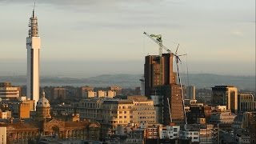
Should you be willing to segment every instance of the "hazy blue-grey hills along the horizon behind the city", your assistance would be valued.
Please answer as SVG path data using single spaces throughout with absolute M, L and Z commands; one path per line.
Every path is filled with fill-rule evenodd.
M 186 74 L 182 75 L 182 84 L 187 86 L 188 78 Z M 124 88 L 134 88 L 140 86 L 139 78 L 142 74 L 103 74 L 91 78 L 59 78 L 42 77 L 41 86 L 122 86 Z M 0 76 L 0 82 L 12 82 L 13 85 L 26 85 L 26 76 Z M 234 85 L 239 90 L 255 91 L 255 76 L 231 76 L 218 74 L 190 74 L 190 85 L 197 88 L 210 89 L 216 85 Z

